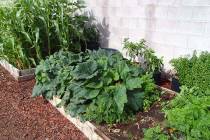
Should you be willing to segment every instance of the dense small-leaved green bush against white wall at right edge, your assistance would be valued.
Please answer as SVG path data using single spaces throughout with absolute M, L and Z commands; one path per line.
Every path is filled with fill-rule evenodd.
M 181 85 L 187 87 L 199 87 L 205 92 L 210 88 L 210 53 L 202 52 L 200 56 L 180 57 L 171 60 Z

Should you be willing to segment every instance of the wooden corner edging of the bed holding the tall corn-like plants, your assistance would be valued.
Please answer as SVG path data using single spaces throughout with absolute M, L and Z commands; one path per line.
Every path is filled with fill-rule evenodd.
M 0 65 L 4 67 L 17 81 L 27 81 L 34 79 L 35 68 L 19 70 L 6 60 L 0 60 Z

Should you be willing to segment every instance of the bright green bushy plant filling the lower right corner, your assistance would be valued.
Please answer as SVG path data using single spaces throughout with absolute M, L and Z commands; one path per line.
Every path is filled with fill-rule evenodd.
M 158 130 L 158 135 L 153 133 L 154 129 L 148 129 L 145 137 L 159 137 L 166 135 L 168 139 L 207 140 L 210 138 L 210 91 L 202 92 L 197 87 L 182 87 L 181 93 L 172 100 L 165 108 L 166 129 L 172 131 L 164 132 Z M 151 133 L 152 132 L 152 133 Z

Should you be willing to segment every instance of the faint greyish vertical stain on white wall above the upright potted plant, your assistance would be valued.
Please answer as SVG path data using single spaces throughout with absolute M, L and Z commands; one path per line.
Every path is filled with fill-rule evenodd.
M 149 4 L 145 8 L 145 15 L 146 15 L 146 25 L 145 25 L 145 39 L 150 42 L 153 38 L 153 33 L 151 29 L 155 27 L 156 19 L 155 19 L 155 5 Z

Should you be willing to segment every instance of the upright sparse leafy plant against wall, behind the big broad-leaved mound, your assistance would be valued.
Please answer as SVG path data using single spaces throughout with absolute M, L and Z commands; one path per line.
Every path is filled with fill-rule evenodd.
M 138 58 L 142 58 L 143 61 L 141 65 L 145 67 L 145 70 L 148 72 L 160 72 L 163 67 L 162 58 L 158 58 L 155 55 L 154 50 L 149 48 L 146 44 L 146 41 L 142 39 L 140 42 L 130 42 L 128 39 L 124 40 L 124 49 L 127 50 L 127 55 L 131 58 L 132 61 L 135 61 Z

